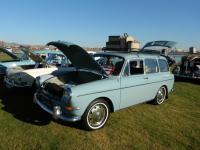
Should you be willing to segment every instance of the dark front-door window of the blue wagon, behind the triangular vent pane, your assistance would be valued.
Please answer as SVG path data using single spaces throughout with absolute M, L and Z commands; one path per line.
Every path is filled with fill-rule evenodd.
M 130 61 L 130 74 L 144 74 L 143 60 L 133 60 Z

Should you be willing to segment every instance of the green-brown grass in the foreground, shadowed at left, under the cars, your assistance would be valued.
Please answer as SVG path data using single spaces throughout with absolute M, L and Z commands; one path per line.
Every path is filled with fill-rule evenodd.
M 178 82 L 162 105 L 123 109 L 103 129 L 88 132 L 53 121 L 26 92 L 0 87 L 0 149 L 199 149 L 199 91 L 199 85 Z

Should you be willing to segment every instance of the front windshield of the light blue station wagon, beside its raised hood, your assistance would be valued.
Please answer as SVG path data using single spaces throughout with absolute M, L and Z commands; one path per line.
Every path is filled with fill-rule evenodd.
M 108 75 L 117 76 L 120 74 L 124 58 L 106 54 L 94 54 L 93 57 Z

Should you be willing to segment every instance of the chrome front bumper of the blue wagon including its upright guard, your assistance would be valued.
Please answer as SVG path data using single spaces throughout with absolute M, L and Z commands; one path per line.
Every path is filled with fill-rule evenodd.
M 51 114 L 53 116 L 54 119 L 61 119 L 64 121 L 69 121 L 69 122 L 76 122 L 81 120 L 81 117 L 65 117 L 62 115 L 62 112 L 57 113 L 58 110 L 56 110 L 57 108 L 59 108 L 59 106 L 54 106 L 54 111 L 50 110 L 49 108 L 47 108 L 45 105 L 43 105 L 36 97 L 36 94 L 34 94 L 33 97 L 33 102 L 37 103 L 43 110 L 45 110 L 46 112 L 48 112 L 49 114 Z M 59 110 L 60 111 L 60 110 Z

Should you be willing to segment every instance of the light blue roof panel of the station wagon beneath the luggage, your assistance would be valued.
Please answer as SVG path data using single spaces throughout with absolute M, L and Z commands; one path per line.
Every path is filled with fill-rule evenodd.
M 131 58 L 163 58 L 165 57 L 161 55 L 156 55 L 156 54 L 145 54 L 145 53 L 139 53 L 139 52 L 111 52 L 111 51 L 106 51 L 106 52 L 97 52 L 96 54 L 108 54 L 108 55 L 115 55 L 115 56 L 120 56 L 125 59 L 131 59 Z

